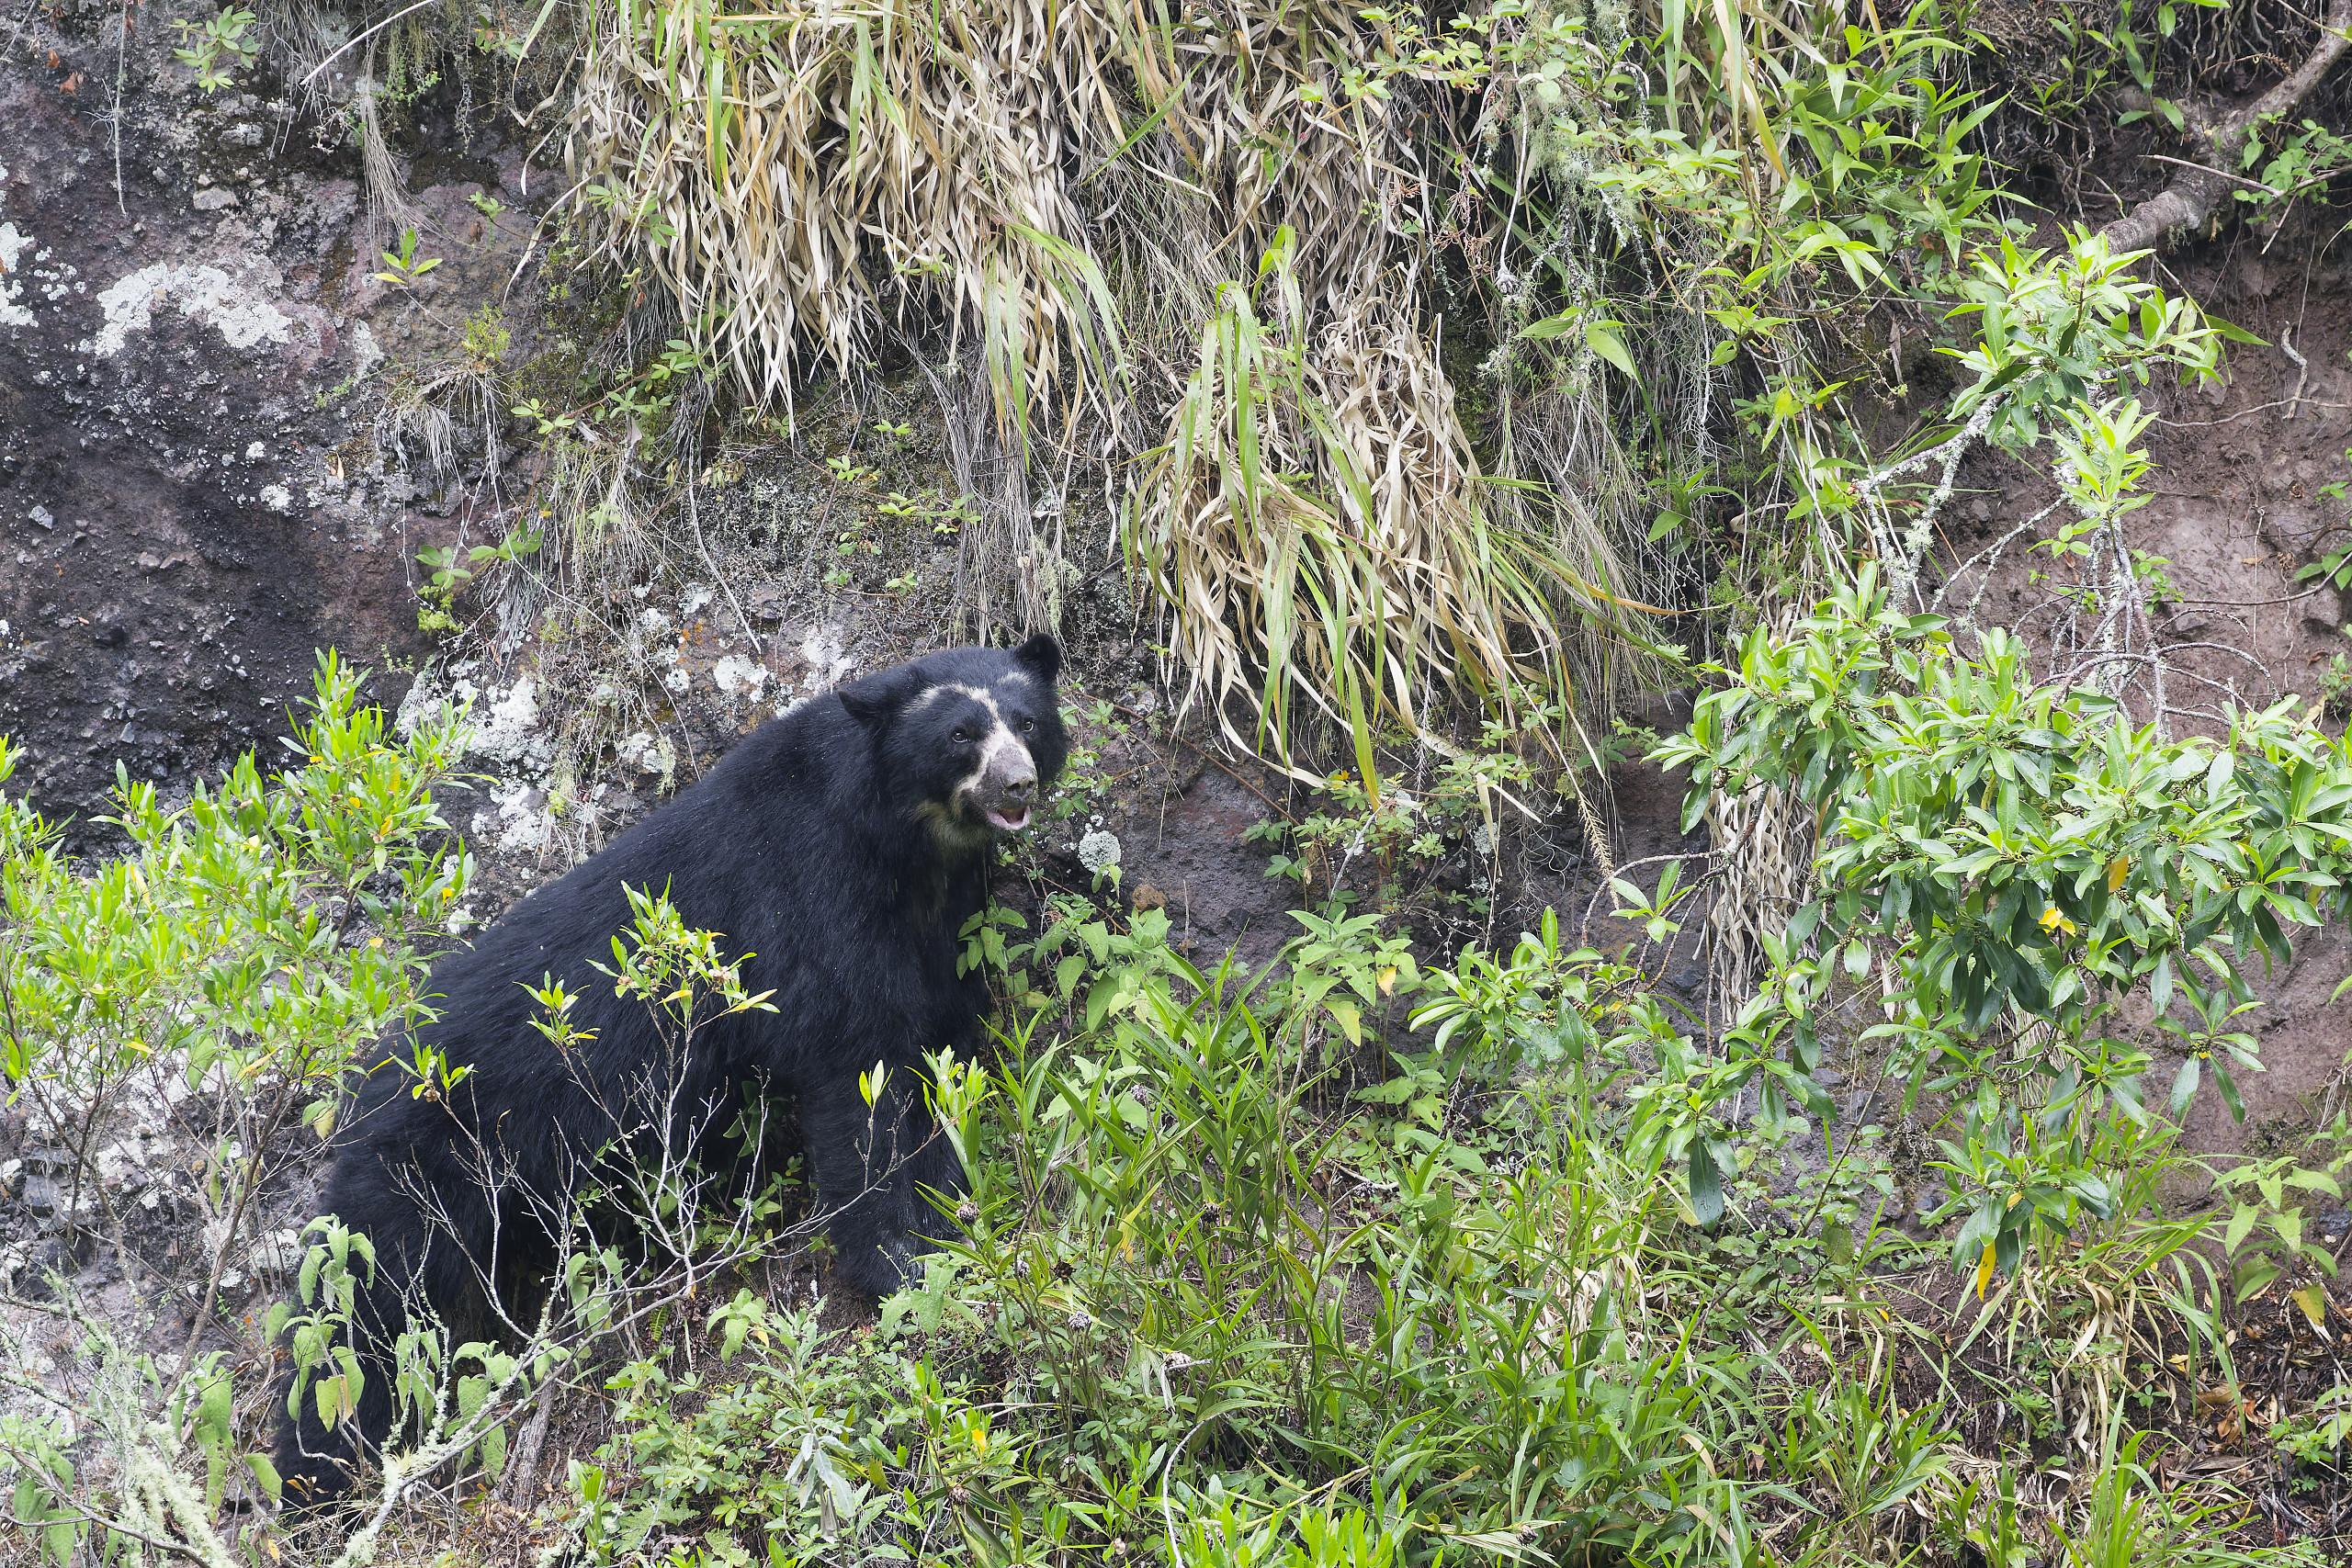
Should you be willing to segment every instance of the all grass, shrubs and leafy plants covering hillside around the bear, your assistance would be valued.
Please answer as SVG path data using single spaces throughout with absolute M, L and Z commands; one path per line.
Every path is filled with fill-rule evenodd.
M 2352 748 L 2159 632 L 2178 595 L 2126 527 L 2154 400 L 2246 334 L 2117 244 L 2192 235 L 2070 221 L 2053 153 L 2176 136 L 2234 160 L 2239 200 L 2190 221 L 2317 254 L 2340 214 L 2288 223 L 2352 172 L 2303 115 L 2340 45 L 2274 5 L 2089 9 L 548 0 L 191 33 L 207 80 L 362 49 L 329 113 L 369 169 L 430 71 L 562 115 L 543 310 L 604 310 L 607 346 L 510 367 L 482 313 L 388 393 L 388 440 L 541 442 L 529 529 L 428 562 L 430 611 L 473 574 L 635 569 L 814 378 L 906 353 L 995 461 L 894 496 L 964 529 L 967 625 L 1054 618 L 1070 541 L 1028 484 L 1096 473 L 1171 689 L 1324 809 L 1270 827 L 1303 907 L 1265 973 L 1202 969 L 1115 867 L 967 933 L 997 1044 L 936 1084 L 974 1192 L 875 1326 L 818 1324 L 790 1187 L 616 1171 L 503 1342 L 412 1326 L 409 1448 L 301 1528 L 259 1507 L 256 1432 L 285 1361 L 350 1408 L 327 1347 L 372 1258 L 245 1215 L 402 1058 L 470 875 L 435 806 L 463 715 L 388 733 L 327 661 L 282 771 L 179 811 L 125 780 L 106 867 L 0 797 L 0 1065 L 68 1152 L 26 1180 L 125 1274 L 155 1222 L 209 1258 L 169 1342 L 64 1269 L 9 1298 L 21 1549 L 2340 1554 L 2352 1128 L 2223 1159 L 2180 1124 L 2239 1110 L 2244 1013 L 2345 914 Z M 395 233 L 381 277 L 414 287 Z M 659 331 L 616 303 L 663 296 Z M 1940 527 L 1985 447 L 2056 501 L 1962 557 Z M 1985 611 L 2020 564 L 2030 632 Z M 1696 693 L 1653 759 L 1712 849 L 1616 867 L 1590 790 L 1639 689 Z M 1404 872 L 1543 795 L 1646 945 L 1557 910 L 1416 952 Z M 743 1006 L 724 933 L 647 893 L 619 983 L 677 1034 Z M 1677 938 L 1696 990 L 1661 973 Z M 466 1072 L 405 1065 L 419 1098 Z M 212 1150 L 160 1220 L 113 1197 L 141 1117 Z M 287 1302 L 226 1321 L 249 1276 Z

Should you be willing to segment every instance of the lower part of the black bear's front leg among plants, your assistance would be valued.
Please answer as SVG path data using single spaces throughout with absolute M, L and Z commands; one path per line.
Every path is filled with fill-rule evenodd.
M 856 1072 L 802 1093 L 800 1126 L 837 1272 L 868 1295 L 891 1295 L 920 1276 L 917 1260 L 946 1225 L 922 1190 L 964 1192 L 964 1171 L 922 1091 L 913 1067 L 891 1067 L 873 1105 Z

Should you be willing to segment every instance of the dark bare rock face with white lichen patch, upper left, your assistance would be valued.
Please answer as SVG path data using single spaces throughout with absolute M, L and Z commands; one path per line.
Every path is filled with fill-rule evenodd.
M 442 496 L 350 411 L 416 313 L 367 275 L 358 158 L 285 99 L 200 92 L 167 7 L 136 16 L 118 146 L 92 16 L 33 12 L 0 59 L 0 733 L 12 788 L 85 820 L 118 759 L 186 780 L 268 743 L 313 649 L 397 701 L 388 665 L 430 654 L 412 557 L 463 527 L 412 510 Z M 503 273 L 529 223 L 480 190 L 426 190 L 452 277 Z

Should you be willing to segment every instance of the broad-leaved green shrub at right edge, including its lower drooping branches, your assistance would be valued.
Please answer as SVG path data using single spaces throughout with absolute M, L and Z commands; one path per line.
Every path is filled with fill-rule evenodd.
M 2352 752 L 2293 703 L 2234 715 L 2218 743 L 2169 738 L 2096 686 L 2034 684 L 1999 630 L 1983 649 L 1889 609 L 1865 567 L 1790 637 L 1752 632 L 1658 755 L 1691 766 L 1686 820 L 1710 788 L 1755 783 L 1818 813 L 1776 1006 L 1802 1025 L 1832 969 L 1886 976 L 1893 1016 L 1867 1037 L 1907 1103 L 1966 1107 L 1955 1258 L 2016 1267 L 2034 1227 L 2110 1215 L 2086 1147 L 2103 1114 L 2150 1114 L 2126 999 L 2178 1041 L 2171 1114 L 2206 1074 L 2239 1112 L 2234 1072 L 2260 1060 L 2230 1023 L 2352 865 Z M 1820 959 L 1797 957 L 1806 940 Z

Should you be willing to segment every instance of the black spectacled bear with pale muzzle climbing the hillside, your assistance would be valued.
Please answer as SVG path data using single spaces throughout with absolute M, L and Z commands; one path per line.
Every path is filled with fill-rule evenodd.
M 539 889 L 473 947 L 433 969 L 437 1020 L 416 1046 L 470 1067 L 447 1095 L 409 1093 L 397 1063 L 367 1074 L 339 1138 L 322 1211 L 376 1251 L 350 1328 L 362 1394 L 332 1432 L 313 1399 L 278 1429 L 278 1472 L 303 1500 L 350 1486 L 390 1434 L 393 1342 L 412 1302 L 454 1342 L 496 1338 L 485 1279 L 543 1279 L 543 1215 L 623 1128 L 649 1074 L 675 1072 L 670 1105 L 696 1107 L 684 1138 L 717 1131 L 746 1084 L 797 1095 L 837 1279 L 887 1295 L 931 1251 L 964 1173 L 924 1103 L 924 1053 L 978 1044 L 983 976 L 957 976 L 960 931 L 988 898 L 990 846 L 1018 832 L 1068 757 L 1054 684 L 1061 646 L 950 649 L 769 719 L 673 804 Z M 663 1065 L 647 1004 L 616 997 L 593 964 L 630 924 L 626 889 L 663 891 L 689 929 L 717 931 L 743 987 L 771 1013 L 739 1013 Z M 569 1020 L 593 1034 L 557 1051 L 527 987 L 555 976 Z M 875 1105 L 858 1074 L 889 1067 Z M 680 1133 L 670 1131 L 675 1145 Z M 659 1145 L 656 1145 L 659 1147 Z M 485 1161 L 485 1154 L 489 1157 Z M 485 1164 L 499 1173 L 485 1182 Z

